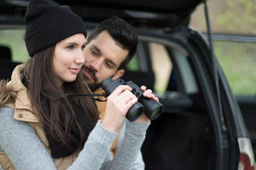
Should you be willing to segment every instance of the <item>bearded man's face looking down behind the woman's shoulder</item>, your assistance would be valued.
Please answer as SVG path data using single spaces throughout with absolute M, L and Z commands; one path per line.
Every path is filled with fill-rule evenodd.
M 118 70 L 128 55 L 128 50 L 122 49 L 108 31 L 102 31 L 94 40 L 91 40 L 84 49 L 85 62 L 82 67 L 85 82 L 97 85 L 111 77 L 113 80 L 122 77 L 124 70 Z

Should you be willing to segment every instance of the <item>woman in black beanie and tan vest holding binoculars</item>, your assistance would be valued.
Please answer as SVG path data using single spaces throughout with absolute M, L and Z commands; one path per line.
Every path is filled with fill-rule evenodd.
M 87 36 L 81 18 L 52 0 L 30 0 L 25 22 L 32 58 L 15 68 L 11 82 L 0 82 L 0 165 L 4 170 L 130 169 L 150 123 L 144 114 L 127 121 L 113 160 L 109 149 L 137 102 L 131 88 L 119 86 L 108 96 L 100 121 L 93 98 L 69 95 L 89 93 L 79 73 Z M 144 96 L 158 101 L 150 90 Z

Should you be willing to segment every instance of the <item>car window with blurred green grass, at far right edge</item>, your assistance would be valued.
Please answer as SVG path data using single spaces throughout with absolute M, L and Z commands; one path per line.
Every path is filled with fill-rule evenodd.
M 235 95 L 256 94 L 256 43 L 214 41 L 215 55 Z

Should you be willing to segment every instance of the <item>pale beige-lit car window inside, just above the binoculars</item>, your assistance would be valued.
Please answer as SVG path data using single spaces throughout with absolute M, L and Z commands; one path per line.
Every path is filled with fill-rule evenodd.
M 148 42 L 148 49 L 155 76 L 154 90 L 157 93 L 164 93 L 172 72 L 172 61 L 163 44 Z

